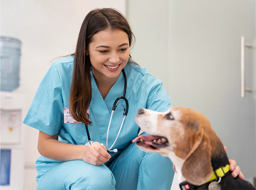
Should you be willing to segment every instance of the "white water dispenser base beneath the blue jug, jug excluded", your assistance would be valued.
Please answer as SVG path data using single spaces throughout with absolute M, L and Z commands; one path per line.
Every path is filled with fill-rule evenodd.
M 0 190 L 23 190 L 23 102 L 20 94 L 0 92 Z

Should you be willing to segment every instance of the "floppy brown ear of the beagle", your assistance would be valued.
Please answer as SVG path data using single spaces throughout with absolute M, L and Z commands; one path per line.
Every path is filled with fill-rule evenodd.
M 209 180 L 212 171 L 210 140 L 204 135 L 204 129 L 200 126 L 181 172 L 189 183 L 201 185 Z

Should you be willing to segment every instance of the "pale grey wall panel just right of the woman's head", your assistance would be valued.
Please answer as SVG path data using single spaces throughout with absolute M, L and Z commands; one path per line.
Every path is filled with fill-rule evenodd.
M 127 2 L 127 18 L 136 37 L 131 56 L 162 80 L 168 91 L 168 0 Z

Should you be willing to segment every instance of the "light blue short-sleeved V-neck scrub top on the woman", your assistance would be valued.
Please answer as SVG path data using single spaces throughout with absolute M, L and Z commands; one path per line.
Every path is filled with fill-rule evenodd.
M 84 145 L 88 141 L 85 124 L 64 123 L 64 108 L 69 108 L 73 68 L 73 56 L 60 58 L 52 63 L 37 89 L 23 123 L 49 135 L 59 134 L 59 141 Z M 118 149 L 118 152 L 109 152 L 111 159 L 121 153 L 131 143 L 131 140 L 138 136 L 140 129 L 135 123 L 135 117 L 139 108 L 165 112 L 171 106 L 171 100 L 161 80 L 150 75 L 146 68 L 128 63 L 124 69 L 127 76 L 126 98 L 129 102 L 129 109 L 121 133 L 112 148 Z M 92 125 L 88 126 L 89 133 L 92 141 L 98 141 L 106 146 L 112 106 L 116 98 L 123 95 L 124 76 L 121 73 L 104 100 L 92 73 L 91 85 L 92 98 L 89 110 Z M 113 114 L 109 129 L 109 148 L 116 139 L 123 120 L 124 107 L 126 107 L 124 100 L 119 100 L 118 104 L 120 105 Z M 40 156 L 36 163 L 37 171 L 43 174 L 57 163 L 61 162 Z

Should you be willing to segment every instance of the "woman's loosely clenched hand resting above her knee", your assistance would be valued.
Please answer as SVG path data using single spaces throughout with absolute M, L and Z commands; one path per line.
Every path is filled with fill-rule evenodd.
M 106 147 L 101 146 L 99 142 L 94 142 L 85 148 L 86 149 L 82 155 L 82 158 L 83 161 L 87 163 L 93 164 L 95 166 L 101 166 L 111 158 L 110 154 L 107 152 Z

